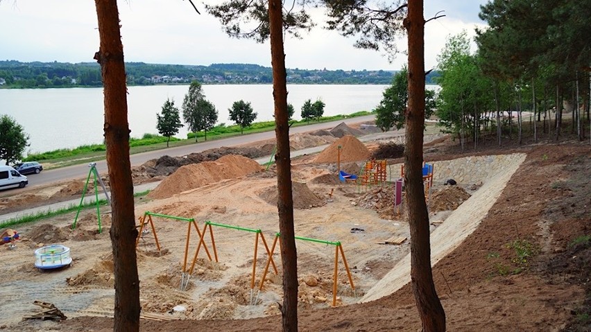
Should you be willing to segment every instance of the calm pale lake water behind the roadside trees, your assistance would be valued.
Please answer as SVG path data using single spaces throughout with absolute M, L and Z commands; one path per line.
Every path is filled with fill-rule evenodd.
M 325 116 L 371 111 L 382 100 L 386 85 L 288 85 L 288 102 L 295 108 L 294 119 L 301 119 L 307 99 L 320 98 Z M 181 109 L 189 85 L 128 87 L 128 118 L 132 137 L 146 132 L 157 134 L 156 114 L 166 98 Z M 205 98 L 214 103 L 219 123 L 228 120 L 228 108 L 234 101 L 252 104 L 255 121 L 273 120 L 272 85 L 203 85 Z M 0 114 L 12 116 L 30 136 L 28 152 L 46 152 L 58 148 L 103 141 L 103 88 L 0 89 Z M 182 114 L 182 113 L 181 113 Z M 181 118 L 182 119 L 182 118 Z M 181 128 L 176 137 L 187 138 Z

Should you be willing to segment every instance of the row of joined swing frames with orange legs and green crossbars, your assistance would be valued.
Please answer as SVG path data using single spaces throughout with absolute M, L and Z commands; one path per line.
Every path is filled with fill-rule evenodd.
M 207 220 L 207 221 L 205 221 L 205 225 L 203 226 L 203 230 L 200 230 L 197 227 L 197 224 L 196 224 L 194 218 L 168 216 L 165 214 L 152 213 L 152 212 L 146 211 L 144 213 L 144 216 L 141 216 L 139 218 L 139 225 L 137 225 L 139 232 L 138 232 L 138 236 L 137 236 L 137 239 L 135 242 L 136 247 L 139 244 L 140 239 L 144 237 L 144 227 L 148 227 L 148 225 L 149 225 L 151 227 L 151 231 L 153 233 L 153 237 L 154 237 L 154 241 L 155 241 L 155 245 L 157 247 L 157 250 L 160 251 L 160 242 L 158 241 L 158 238 L 157 238 L 156 227 L 154 225 L 152 217 L 169 218 L 169 219 L 181 220 L 181 221 L 188 222 L 187 241 L 185 244 L 185 258 L 182 263 L 180 290 L 187 290 L 187 286 L 189 284 L 189 278 L 191 277 L 191 274 L 194 271 L 194 268 L 195 268 L 195 265 L 197 262 L 197 258 L 198 258 L 198 254 L 200 252 L 200 248 L 202 245 L 203 245 L 203 249 L 205 250 L 205 252 L 207 254 L 207 258 L 209 259 L 209 261 L 213 261 L 212 255 L 209 254 L 209 250 L 207 248 L 207 245 L 205 244 L 205 234 L 207 234 L 207 233 L 209 233 L 209 239 L 211 241 L 211 246 L 212 246 L 212 249 L 214 252 L 214 259 L 216 262 L 218 262 L 218 253 L 217 253 L 217 249 L 216 249 L 216 242 L 214 239 L 213 227 L 221 227 L 224 229 L 233 229 L 233 230 L 237 230 L 237 231 L 247 231 L 250 233 L 255 233 L 255 248 L 254 248 L 254 255 L 253 255 L 254 259 L 252 260 L 252 275 L 250 277 L 250 304 L 251 305 L 257 304 L 257 302 L 258 302 L 259 295 L 260 295 L 260 292 L 262 291 L 262 288 L 264 285 L 264 280 L 265 280 L 266 274 L 268 273 L 269 267 L 271 265 L 273 265 L 273 270 L 274 270 L 275 274 L 279 274 L 279 272 L 277 271 L 277 266 L 275 265 L 275 261 L 273 261 L 273 252 L 275 251 L 275 247 L 277 246 L 277 241 L 279 241 L 279 243 L 281 242 L 280 241 L 280 233 L 275 233 L 275 240 L 273 241 L 273 247 L 271 247 L 271 250 L 269 250 L 269 247 L 267 245 L 267 242 L 265 240 L 265 237 L 264 237 L 261 229 L 250 229 L 250 228 L 245 228 L 245 227 L 225 225 L 225 224 L 221 224 L 221 223 L 212 222 L 212 221 Z M 196 229 L 197 235 L 199 236 L 199 241 L 198 241 L 198 244 L 197 244 L 197 247 L 195 250 L 195 254 L 193 256 L 193 260 L 191 261 L 191 266 L 190 266 L 190 268 L 187 268 L 187 256 L 188 256 L 188 252 L 189 252 L 189 239 L 191 238 L 191 228 Z M 207 229 L 209 229 L 209 231 L 207 231 Z M 349 270 L 347 260 L 345 259 L 345 252 L 343 251 L 343 246 L 341 245 L 340 242 L 324 241 L 324 240 L 319 240 L 316 238 L 304 238 L 304 237 L 300 237 L 300 236 L 295 236 L 295 239 L 300 240 L 300 241 L 309 241 L 309 242 L 314 242 L 314 243 L 322 243 L 325 245 L 334 245 L 335 246 L 334 281 L 333 281 L 334 286 L 333 286 L 332 306 L 336 306 L 336 291 L 337 291 L 337 286 L 338 286 L 337 280 L 338 280 L 338 268 L 339 268 L 339 252 L 341 253 L 341 258 L 343 259 L 343 265 L 345 265 L 345 270 L 347 271 L 351 288 L 355 292 L 355 286 L 353 284 L 351 272 Z M 266 266 L 264 268 L 262 278 L 260 279 L 259 290 L 257 292 L 257 296 L 256 296 L 256 298 L 254 298 L 255 280 L 256 280 L 256 272 L 257 272 L 257 261 L 259 259 L 259 257 L 258 257 L 259 241 L 265 247 L 265 251 L 267 254 L 267 262 L 266 262 Z M 355 294 L 355 296 L 357 297 L 357 294 Z

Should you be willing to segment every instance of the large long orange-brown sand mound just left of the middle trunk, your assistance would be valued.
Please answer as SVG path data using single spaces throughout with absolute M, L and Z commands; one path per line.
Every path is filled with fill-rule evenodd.
M 216 161 L 189 164 L 178 168 L 148 194 L 149 198 L 169 198 L 177 193 L 196 189 L 205 184 L 241 177 L 262 171 L 262 166 L 252 159 L 239 155 L 225 155 Z

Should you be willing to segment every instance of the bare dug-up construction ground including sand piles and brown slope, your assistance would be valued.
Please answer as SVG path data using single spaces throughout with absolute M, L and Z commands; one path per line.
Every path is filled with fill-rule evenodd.
M 355 128 L 340 129 L 356 134 Z M 341 169 L 357 174 L 372 154 L 390 151 L 388 180 L 392 180 L 400 175 L 394 166 L 403 160 L 400 149 L 385 139 L 362 144 L 343 134 L 312 136 L 315 138 L 309 140 L 316 145 L 316 137 L 333 144 L 318 155 L 292 160 L 295 235 L 339 241 L 354 289 L 339 261 L 337 306 L 332 308 L 334 246 L 298 241 L 300 331 L 420 331 L 409 283 L 408 220 L 404 211 L 399 215 L 393 209 L 393 186 L 339 182 L 334 153 L 338 143 L 343 149 Z M 400 138 L 391 141 L 400 143 Z M 493 138 L 477 150 L 467 147 L 462 152 L 457 141 L 436 132 L 428 132 L 426 141 L 426 161 L 450 161 L 454 167 L 474 162 L 479 156 L 507 156 L 495 158 L 506 160 L 502 171 L 483 175 L 480 180 L 449 187 L 435 177 L 429 199 L 433 275 L 449 331 L 588 331 L 588 142 L 563 137 L 560 143 L 526 141 L 518 145 L 506 139 L 499 148 Z M 271 150 L 268 144 L 272 148 L 272 142 L 243 148 Z M 250 158 L 256 156 L 243 157 L 239 150 L 216 157 L 220 155 L 224 157 L 199 160 L 198 164 L 179 164 L 177 159 L 136 168 L 136 183 L 162 180 L 147 197 L 137 198 L 136 216 L 151 211 L 195 218 L 200 229 L 205 220 L 261 229 L 271 247 L 279 231 L 274 166 L 265 170 L 252 164 Z M 164 170 L 164 164 L 169 168 Z M 191 174 L 195 178 L 189 184 Z M 43 189 L 46 201 L 76 197 L 82 190 L 79 185 L 68 182 Z M 27 207 L 24 198 L 3 200 L 2 211 Z M 101 209 L 100 234 L 96 210 L 83 211 L 72 230 L 74 214 L 15 226 L 22 239 L 11 250 L 6 245 L 0 247 L 0 329 L 87 331 L 92 326 L 92 331 L 112 330 L 110 211 Z M 142 314 L 158 314 L 169 320 L 142 319 L 141 331 L 280 331 L 280 276 L 271 270 L 257 304 L 250 305 L 255 233 L 214 227 L 219 262 L 209 261 L 202 248 L 187 290 L 180 290 L 187 222 L 160 217 L 153 221 L 162 248 L 156 249 L 149 231 L 140 238 L 140 303 Z M 383 244 L 390 238 L 406 241 Z M 192 230 L 187 266 L 197 242 Z M 35 268 L 33 251 L 51 243 L 71 248 L 74 261 L 70 267 L 53 271 Z M 213 254 L 209 234 L 205 243 Z M 278 252 L 276 249 L 273 259 L 281 269 Z M 267 258 L 261 242 L 258 253 L 257 288 Z M 22 321 L 35 311 L 34 300 L 55 304 L 68 319 Z

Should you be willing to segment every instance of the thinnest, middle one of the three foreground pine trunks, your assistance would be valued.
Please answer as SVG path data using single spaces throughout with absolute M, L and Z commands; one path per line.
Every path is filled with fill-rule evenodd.
M 271 65 L 273 67 L 273 100 L 275 101 L 275 137 L 277 137 L 277 211 L 281 232 L 283 266 L 284 332 L 298 331 L 298 263 L 293 230 L 293 196 L 291 193 L 291 159 L 289 155 L 289 124 L 287 115 L 287 81 L 283 49 L 282 1 L 269 0 L 271 32 Z

